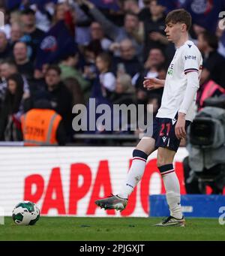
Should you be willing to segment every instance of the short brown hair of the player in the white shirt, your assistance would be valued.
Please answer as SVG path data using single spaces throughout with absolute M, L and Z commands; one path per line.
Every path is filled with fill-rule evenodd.
M 187 26 L 187 31 L 189 31 L 191 26 L 191 20 L 191 16 L 187 11 L 185 11 L 184 9 L 177 9 L 174 11 L 170 11 L 169 14 L 167 14 L 165 23 L 184 23 Z

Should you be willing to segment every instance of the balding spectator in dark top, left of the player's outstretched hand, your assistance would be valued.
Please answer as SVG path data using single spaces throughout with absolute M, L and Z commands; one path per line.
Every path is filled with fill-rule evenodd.
M 128 38 L 121 41 L 119 51 L 120 57 L 113 58 L 113 73 L 116 75 L 127 73 L 133 77 L 141 69 L 133 41 Z

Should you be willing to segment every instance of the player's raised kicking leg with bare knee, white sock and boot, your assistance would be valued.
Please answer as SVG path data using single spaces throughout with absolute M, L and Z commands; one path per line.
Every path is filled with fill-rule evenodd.
M 153 138 L 142 137 L 136 149 L 133 150 L 133 161 L 126 178 L 121 184 L 119 193 L 96 200 L 95 203 L 98 206 L 104 209 L 116 209 L 120 211 L 125 209 L 129 195 L 132 193 L 139 180 L 142 179 L 148 155 L 155 150 L 154 144 L 155 140 Z

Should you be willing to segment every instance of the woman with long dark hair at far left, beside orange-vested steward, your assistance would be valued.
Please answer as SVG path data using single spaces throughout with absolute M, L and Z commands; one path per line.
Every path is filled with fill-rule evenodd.
M 23 104 L 28 94 L 24 93 L 23 78 L 20 74 L 12 74 L 7 78 L 7 90 L 0 113 L 0 140 L 22 140 L 20 117 Z

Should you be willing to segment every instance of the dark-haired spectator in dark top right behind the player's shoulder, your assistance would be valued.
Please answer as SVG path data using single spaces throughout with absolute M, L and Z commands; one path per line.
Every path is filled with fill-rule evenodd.
M 202 32 L 197 42 L 199 50 L 203 54 L 203 68 L 200 84 L 214 80 L 215 83 L 225 88 L 225 59 L 217 53 L 217 37 L 210 32 Z

